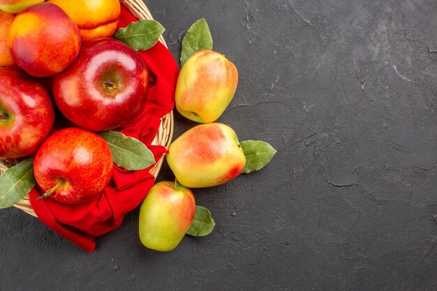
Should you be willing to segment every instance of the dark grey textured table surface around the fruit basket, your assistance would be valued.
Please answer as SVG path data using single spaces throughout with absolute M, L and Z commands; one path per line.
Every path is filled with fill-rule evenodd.
M 437 290 L 435 0 L 147 6 L 176 59 L 207 19 L 240 77 L 218 121 L 278 153 L 195 190 L 216 228 L 170 253 L 142 246 L 138 209 L 91 254 L 1 209 L 0 290 Z M 176 114 L 175 137 L 193 125 Z

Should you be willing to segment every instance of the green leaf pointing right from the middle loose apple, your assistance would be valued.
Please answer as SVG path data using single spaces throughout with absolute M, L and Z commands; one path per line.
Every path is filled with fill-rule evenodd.
M 244 173 L 250 173 L 258 171 L 267 165 L 272 160 L 276 149 L 274 149 L 267 142 L 261 140 L 246 140 L 240 142 L 246 156 L 246 166 L 244 167 Z

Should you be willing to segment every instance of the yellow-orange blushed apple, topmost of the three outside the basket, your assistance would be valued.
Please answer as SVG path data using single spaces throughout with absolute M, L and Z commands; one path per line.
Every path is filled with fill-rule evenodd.
M 205 124 L 223 114 L 238 84 L 235 65 L 211 50 L 196 52 L 186 60 L 177 79 L 175 104 L 182 116 Z

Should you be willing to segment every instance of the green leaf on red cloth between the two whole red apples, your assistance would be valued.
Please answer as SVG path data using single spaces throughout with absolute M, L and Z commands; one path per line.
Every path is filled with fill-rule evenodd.
M 126 170 L 142 170 L 155 163 L 154 155 L 149 149 L 133 137 L 126 137 L 117 131 L 98 133 L 108 142 L 115 165 Z

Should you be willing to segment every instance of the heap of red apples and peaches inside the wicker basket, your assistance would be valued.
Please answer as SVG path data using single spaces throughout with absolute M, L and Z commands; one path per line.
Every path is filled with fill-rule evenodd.
M 142 57 L 110 38 L 119 1 L 93 3 L 98 5 L 0 1 L 7 20 L 1 29 L 0 159 L 36 153 L 34 174 L 42 197 L 68 204 L 93 200 L 108 185 L 112 155 L 93 132 L 135 121 L 149 87 Z M 50 135 L 57 129 L 57 110 L 62 129 Z

